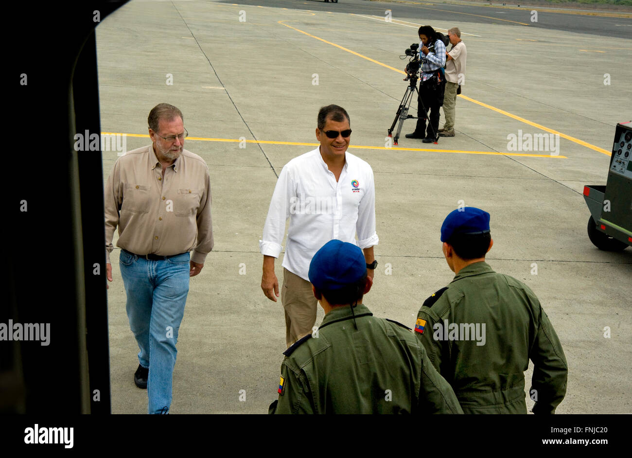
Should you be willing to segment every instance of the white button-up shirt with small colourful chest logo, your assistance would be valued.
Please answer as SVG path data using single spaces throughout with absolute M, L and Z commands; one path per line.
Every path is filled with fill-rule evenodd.
M 346 152 L 336 181 L 320 147 L 290 160 L 274 188 L 259 241 L 262 255 L 279 257 L 288 218 L 283 267 L 308 281 L 312 257 L 328 241 L 338 239 L 362 249 L 377 245 L 371 166 Z

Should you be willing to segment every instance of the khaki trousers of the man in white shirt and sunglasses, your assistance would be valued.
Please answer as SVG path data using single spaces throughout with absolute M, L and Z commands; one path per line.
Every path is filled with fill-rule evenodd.
M 285 340 L 289 347 L 296 340 L 312 333 L 318 301 L 310 282 L 283 268 L 281 302 L 285 310 Z

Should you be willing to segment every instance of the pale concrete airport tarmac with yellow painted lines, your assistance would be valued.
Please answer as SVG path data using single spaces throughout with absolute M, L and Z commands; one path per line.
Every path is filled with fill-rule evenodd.
M 399 56 L 421 24 L 330 10 L 133 0 L 97 27 L 102 131 L 125 133 L 127 150 L 147 145 L 149 110 L 174 104 L 185 148 L 210 170 L 215 248 L 191 279 L 171 413 L 267 413 L 277 398 L 284 315 L 260 289 L 258 240 L 277 175 L 315 148 L 318 109 L 331 103 L 351 117 L 349 152 L 375 173 L 379 265 L 364 301 L 374 315 L 414 327 L 425 298 L 453 279 L 444 217 L 461 204 L 483 208 L 494 238 L 487 261 L 533 289 L 564 347 L 568 393 L 557 412 L 631 413 L 632 249 L 590 243 L 582 189 L 606 183 L 615 125 L 630 120 L 632 39 L 433 21 L 444 33 L 461 27 L 468 49 L 456 136 L 407 140 L 408 120 L 392 147 L 387 128 L 406 89 Z M 512 134 L 544 133 L 556 139 L 548 148 L 511 150 Z M 116 159 L 104 152 L 104 180 Z M 118 254 L 108 292 L 112 413 L 143 414 Z M 281 260 L 276 272 L 282 282 Z

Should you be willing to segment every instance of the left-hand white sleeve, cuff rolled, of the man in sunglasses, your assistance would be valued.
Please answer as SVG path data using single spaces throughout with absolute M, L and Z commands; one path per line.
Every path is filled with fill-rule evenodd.
M 289 176 L 288 166 L 283 167 L 279 179 L 277 179 L 270 208 L 265 219 L 264 235 L 259 241 L 259 249 L 264 256 L 278 258 L 283 246 L 285 236 L 285 222 L 289 218 L 289 205 L 291 198 L 296 197 L 293 180 Z

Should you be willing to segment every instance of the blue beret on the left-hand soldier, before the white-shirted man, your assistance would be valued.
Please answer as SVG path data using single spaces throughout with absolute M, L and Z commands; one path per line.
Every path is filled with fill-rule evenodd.
M 358 282 L 366 272 L 367 262 L 360 247 L 330 240 L 313 256 L 308 277 L 319 291 L 334 291 Z

